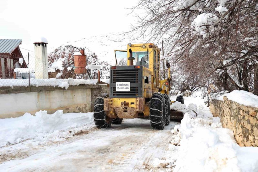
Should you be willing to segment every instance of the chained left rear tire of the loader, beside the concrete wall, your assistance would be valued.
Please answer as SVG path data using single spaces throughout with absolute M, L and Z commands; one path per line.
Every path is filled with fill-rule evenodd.
M 112 118 L 106 116 L 104 111 L 104 99 L 109 97 L 108 94 L 102 93 L 97 96 L 94 102 L 94 121 L 97 128 L 109 128 L 112 123 Z

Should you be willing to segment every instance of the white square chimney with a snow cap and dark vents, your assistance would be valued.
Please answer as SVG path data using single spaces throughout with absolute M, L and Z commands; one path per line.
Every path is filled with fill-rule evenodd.
M 35 78 L 48 79 L 48 51 L 46 38 L 34 42 Z

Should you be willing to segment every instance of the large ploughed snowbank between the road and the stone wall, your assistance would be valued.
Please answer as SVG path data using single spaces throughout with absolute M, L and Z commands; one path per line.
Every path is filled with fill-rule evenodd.
M 165 158 L 155 159 L 153 166 L 173 172 L 257 172 L 258 147 L 240 147 L 230 129 L 222 128 L 219 117 L 213 117 L 206 107 L 201 93 L 194 98 L 184 97 L 186 106 L 176 105 L 188 111 L 168 145 Z M 173 103 L 174 104 L 174 103 Z M 197 104 L 197 105 L 196 105 Z M 191 110 L 195 110 L 197 117 Z

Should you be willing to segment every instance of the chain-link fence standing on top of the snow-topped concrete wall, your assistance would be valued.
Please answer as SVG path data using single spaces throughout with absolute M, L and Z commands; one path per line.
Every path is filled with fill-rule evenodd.
M 59 86 L 96 84 L 98 75 L 93 72 L 94 78 L 89 79 L 89 72 L 75 74 L 74 64 L 57 60 L 48 67 L 48 59 L 37 58 L 34 54 L 27 56 L 0 55 L 0 87 L 16 86 Z M 65 67 L 64 67 L 65 66 Z

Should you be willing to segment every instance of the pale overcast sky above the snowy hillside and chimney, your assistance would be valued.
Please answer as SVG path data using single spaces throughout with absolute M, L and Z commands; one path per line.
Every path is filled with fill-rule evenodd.
M 124 32 L 135 23 L 126 14 L 137 0 L 59 1 L 1 0 L 0 39 L 22 39 L 21 48 L 34 51 L 40 37 L 48 47 L 111 32 Z M 48 49 L 49 52 L 49 49 Z

